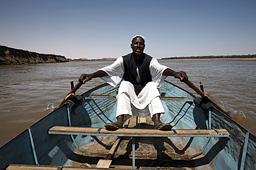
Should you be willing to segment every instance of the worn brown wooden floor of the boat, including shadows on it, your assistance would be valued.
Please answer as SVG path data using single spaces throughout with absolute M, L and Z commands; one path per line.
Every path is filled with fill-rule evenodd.
M 129 123 L 129 128 L 135 127 L 136 123 Z M 149 122 L 146 125 L 140 126 L 140 129 L 144 128 L 152 129 L 154 126 Z M 73 160 L 73 165 L 79 167 L 81 164 L 90 164 L 91 167 L 95 167 L 100 159 L 107 158 L 108 151 L 117 138 L 115 136 L 109 136 L 107 138 L 91 137 L 91 142 L 94 142 L 91 147 L 87 146 L 86 149 L 77 149 L 75 153 L 69 148 L 64 149 L 68 153 L 66 154 L 68 159 Z M 136 169 L 140 169 L 140 167 L 196 169 L 199 166 L 207 166 L 208 169 L 211 169 L 210 162 L 228 142 L 228 138 L 219 138 L 219 141 L 212 146 L 208 153 L 205 153 L 205 155 L 201 154 L 199 157 L 190 158 L 191 153 L 187 150 L 189 148 L 191 149 L 192 140 L 193 138 L 190 138 L 185 145 L 182 145 L 181 143 L 174 143 L 172 138 L 167 137 L 154 138 L 153 140 L 147 137 L 136 137 Z M 111 167 L 131 167 L 131 152 L 131 137 L 122 137 L 122 141 L 111 159 Z

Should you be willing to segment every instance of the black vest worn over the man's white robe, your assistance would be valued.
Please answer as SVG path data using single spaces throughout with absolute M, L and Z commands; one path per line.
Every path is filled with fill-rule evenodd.
M 138 65 L 138 73 L 140 75 L 140 83 L 136 82 L 137 77 L 137 65 L 132 53 L 122 56 L 125 67 L 125 74 L 122 76 L 125 81 L 129 81 L 134 85 L 135 93 L 138 95 L 140 91 L 145 87 L 147 83 L 152 81 L 152 76 L 149 70 L 149 64 L 152 60 L 152 56 L 143 53 L 143 61 Z

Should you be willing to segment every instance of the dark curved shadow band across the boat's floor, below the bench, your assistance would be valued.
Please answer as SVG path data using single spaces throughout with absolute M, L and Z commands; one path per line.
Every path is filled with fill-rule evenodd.
M 167 155 L 165 152 L 162 152 L 156 156 L 156 154 L 152 154 L 151 156 L 136 156 L 136 167 L 139 169 L 140 167 L 187 167 L 187 168 L 195 168 L 202 165 L 210 164 L 214 156 L 216 156 L 219 151 L 223 149 L 223 146 L 226 145 L 228 138 L 220 138 L 219 142 L 217 142 L 211 149 L 206 153 L 205 156 L 201 158 L 190 159 L 188 156 L 173 154 L 172 156 Z M 129 151 L 127 152 L 129 153 Z M 90 156 L 84 156 L 77 153 L 68 154 L 68 158 L 70 160 L 75 161 L 75 164 L 87 163 L 91 164 L 92 167 L 95 167 L 95 164 L 98 163 L 100 159 L 104 159 L 107 156 L 106 153 L 91 153 Z M 131 166 L 132 158 L 130 154 L 124 154 L 115 156 L 112 158 L 111 167 L 116 166 Z

